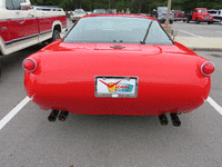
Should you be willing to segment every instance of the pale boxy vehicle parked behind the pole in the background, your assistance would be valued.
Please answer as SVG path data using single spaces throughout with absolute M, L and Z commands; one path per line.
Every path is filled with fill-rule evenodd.
M 161 23 L 164 23 L 167 20 L 168 7 L 158 7 L 158 10 L 153 9 L 151 16 L 155 18 Z M 173 23 L 174 17 L 173 12 L 170 11 L 169 22 Z

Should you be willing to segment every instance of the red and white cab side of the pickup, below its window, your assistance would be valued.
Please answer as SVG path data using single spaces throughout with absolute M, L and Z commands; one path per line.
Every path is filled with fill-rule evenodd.
M 33 10 L 7 10 L 0 9 L 1 53 L 13 51 L 38 43 L 38 20 Z

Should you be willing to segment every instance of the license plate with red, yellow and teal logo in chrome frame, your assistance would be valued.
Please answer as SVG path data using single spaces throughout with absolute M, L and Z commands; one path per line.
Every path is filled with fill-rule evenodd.
M 95 77 L 95 97 L 137 98 L 138 77 Z

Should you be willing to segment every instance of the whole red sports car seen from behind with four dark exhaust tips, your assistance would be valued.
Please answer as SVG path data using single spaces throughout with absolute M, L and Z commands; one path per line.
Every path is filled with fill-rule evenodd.
M 200 107 L 214 66 L 174 42 L 147 16 L 99 14 L 78 20 L 69 33 L 23 61 L 28 96 L 59 115 L 158 115 Z

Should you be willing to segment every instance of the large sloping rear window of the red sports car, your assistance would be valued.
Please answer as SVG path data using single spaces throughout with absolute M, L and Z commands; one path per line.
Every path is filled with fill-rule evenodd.
M 172 45 L 155 20 L 132 17 L 89 17 L 80 19 L 63 42 L 141 43 L 152 21 L 145 45 Z

